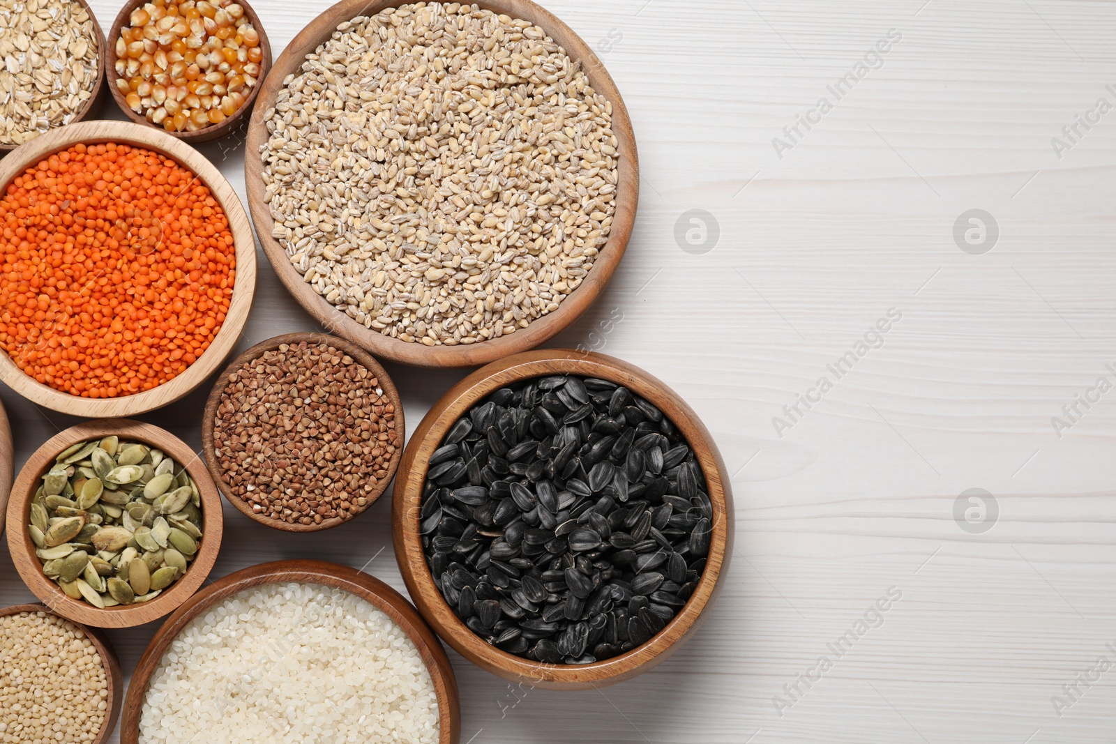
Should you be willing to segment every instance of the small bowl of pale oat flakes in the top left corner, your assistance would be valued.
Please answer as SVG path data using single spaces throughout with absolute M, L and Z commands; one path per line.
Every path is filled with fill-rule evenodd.
M 105 35 L 86 0 L 0 1 L 0 157 L 105 102 Z

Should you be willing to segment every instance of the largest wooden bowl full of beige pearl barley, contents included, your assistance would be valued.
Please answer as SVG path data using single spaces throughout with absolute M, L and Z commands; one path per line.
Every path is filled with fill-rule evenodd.
M 607 286 L 638 156 L 600 60 L 527 0 L 344 0 L 264 80 L 244 161 L 260 242 L 324 327 L 377 357 L 531 349 Z

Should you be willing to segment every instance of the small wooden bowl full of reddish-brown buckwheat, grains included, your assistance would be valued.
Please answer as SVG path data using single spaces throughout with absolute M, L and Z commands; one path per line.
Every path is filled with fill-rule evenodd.
M 218 378 L 205 405 L 205 464 L 229 503 L 285 532 L 343 524 L 391 483 L 403 404 L 360 347 L 325 334 L 259 344 Z

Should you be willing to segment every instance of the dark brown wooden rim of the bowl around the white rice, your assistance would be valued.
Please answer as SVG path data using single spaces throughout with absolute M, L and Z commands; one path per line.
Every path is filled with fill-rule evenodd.
M 163 659 L 163 654 L 175 637 L 182 632 L 192 620 L 204 613 L 218 602 L 246 589 L 269 583 L 316 583 L 325 587 L 344 589 L 355 595 L 377 609 L 387 613 L 404 632 L 414 641 L 422 656 L 431 679 L 437 693 L 437 706 L 441 714 L 441 744 L 458 744 L 461 736 L 461 711 L 458 695 L 458 683 L 453 675 L 450 659 L 442 650 L 442 645 L 423 622 L 411 602 L 383 581 L 348 566 L 314 560 L 276 561 L 261 563 L 230 573 L 218 579 L 180 607 L 167 618 L 163 627 L 152 638 L 147 649 L 140 657 L 132 683 L 128 685 L 124 702 L 124 723 L 121 726 L 122 744 L 138 744 L 140 717 L 143 713 L 143 702 L 147 694 L 151 678 Z

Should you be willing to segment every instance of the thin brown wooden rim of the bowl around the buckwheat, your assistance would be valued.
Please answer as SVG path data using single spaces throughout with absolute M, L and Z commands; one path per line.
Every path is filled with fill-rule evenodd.
M 252 511 L 252 508 L 244 500 L 230 494 L 229 484 L 224 481 L 224 472 L 221 470 L 221 462 L 217 455 L 217 446 L 213 441 L 213 429 L 217 428 L 217 409 L 221 404 L 221 394 L 224 392 L 225 385 L 228 384 L 229 375 L 237 371 L 249 361 L 259 359 L 267 351 L 272 351 L 278 349 L 283 344 L 301 344 L 306 341 L 307 344 L 328 344 L 340 351 L 353 357 L 360 366 L 365 367 L 375 375 L 376 380 L 379 383 L 379 387 L 384 390 L 384 394 L 388 397 L 392 405 L 395 406 L 395 432 L 396 432 L 396 447 L 395 455 L 392 456 L 392 462 L 387 466 L 387 476 L 381 482 L 379 487 L 376 489 L 373 496 L 369 499 L 368 503 L 365 504 L 364 509 L 357 512 L 349 519 L 340 519 L 335 516 L 334 519 L 325 520 L 320 524 L 290 524 L 289 522 L 283 522 L 282 520 L 271 519 L 266 514 L 257 514 Z M 218 487 L 224 494 L 225 500 L 237 508 L 241 514 L 256 520 L 260 524 L 266 524 L 267 526 L 275 528 L 276 530 L 281 530 L 283 532 L 319 532 L 321 530 L 328 530 L 329 528 L 337 526 L 338 524 L 344 524 L 345 522 L 350 522 L 357 516 L 359 516 L 368 506 L 372 506 L 379 496 L 384 494 L 387 490 L 387 484 L 392 482 L 395 477 L 395 470 L 400 466 L 400 458 L 403 456 L 403 443 L 405 439 L 406 427 L 403 422 L 403 402 L 400 399 L 398 390 L 395 389 L 395 383 L 388 377 L 387 371 L 379 366 L 371 354 L 350 344 L 345 339 L 337 338 L 336 336 L 327 336 L 325 334 L 287 334 L 286 336 L 276 336 L 275 338 L 269 338 L 262 344 L 257 344 L 252 348 L 248 349 L 239 357 L 237 357 L 232 364 L 225 367 L 224 371 L 217 378 L 217 383 L 213 384 L 213 390 L 210 393 L 209 400 L 205 402 L 205 413 L 202 417 L 202 452 L 205 455 L 205 466 L 209 468 L 210 475 L 213 476 L 213 482 L 218 484 Z

